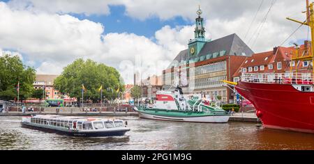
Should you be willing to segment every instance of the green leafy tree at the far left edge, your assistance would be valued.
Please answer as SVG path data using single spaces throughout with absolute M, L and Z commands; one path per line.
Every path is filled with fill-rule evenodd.
M 18 56 L 8 54 L 0 57 L 0 99 L 17 98 L 17 83 L 20 82 L 20 100 L 31 97 L 35 69 L 23 65 Z

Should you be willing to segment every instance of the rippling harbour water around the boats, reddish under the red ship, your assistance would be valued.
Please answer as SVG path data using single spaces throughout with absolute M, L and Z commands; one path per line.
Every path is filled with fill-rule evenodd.
M 314 150 L 314 135 L 264 129 L 255 123 L 197 124 L 119 117 L 126 136 L 75 138 L 21 127 L 21 117 L 0 117 L 0 149 Z

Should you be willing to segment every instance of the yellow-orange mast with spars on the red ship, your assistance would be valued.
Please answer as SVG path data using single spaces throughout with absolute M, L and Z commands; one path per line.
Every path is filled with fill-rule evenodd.
M 292 57 L 292 60 L 296 60 L 296 61 L 299 61 L 299 60 L 312 60 L 312 69 L 313 69 L 313 66 L 314 66 L 314 44 L 313 44 L 313 40 L 314 40 L 314 10 L 313 10 L 313 3 L 309 3 L 309 0 L 306 0 L 306 21 L 305 22 L 300 22 L 300 21 L 297 21 L 295 19 L 291 19 L 289 17 L 287 17 L 288 20 L 291 20 L 293 22 L 297 22 L 299 24 L 303 24 L 303 25 L 306 25 L 306 26 L 310 26 L 311 28 L 311 52 L 308 52 L 309 55 L 308 56 L 299 56 L 299 52 L 297 54 L 297 56 L 294 56 Z M 305 47 L 306 49 L 308 47 Z M 314 81 L 314 69 L 313 69 L 313 81 Z

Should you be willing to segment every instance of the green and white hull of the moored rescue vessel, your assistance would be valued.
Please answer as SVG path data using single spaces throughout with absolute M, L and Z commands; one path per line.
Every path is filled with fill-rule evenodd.
M 230 115 L 203 115 L 195 117 L 173 117 L 167 115 L 154 115 L 146 113 L 141 110 L 137 110 L 140 118 L 150 120 L 163 120 L 163 121 L 174 121 L 174 122 L 199 122 L 199 123 L 227 123 Z

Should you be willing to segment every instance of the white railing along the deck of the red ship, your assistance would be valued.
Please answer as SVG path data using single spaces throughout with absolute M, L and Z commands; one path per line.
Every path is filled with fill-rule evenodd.
M 311 73 L 243 74 L 241 76 L 241 81 L 249 83 L 281 83 L 281 84 L 313 85 L 313 74 Z

